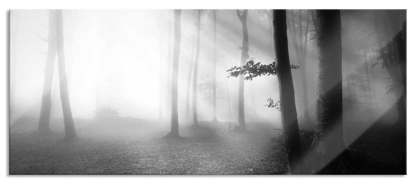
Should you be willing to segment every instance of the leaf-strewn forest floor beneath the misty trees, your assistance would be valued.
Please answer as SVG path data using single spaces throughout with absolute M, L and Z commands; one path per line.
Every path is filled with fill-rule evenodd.
M 10 130 L 10 174 L 285 174 L 286 156 L 271 123 L 248 123 L 247 133 L 228 132 L 225 122 L 180 125 L 182 140 L 162 137 L 169 124 L 129 117 L 75 124 L 80 139 L 62 144 L 63 131 L 44 138 Z M 85 125 L 88 124 L 88 125 Z M 79 125 L 79 126 L 78 126 Z M 21 129 L 21 128 L 20 128 Z M 377 132 L 382 132 L 376 129 Z M 405 143 L 391 136 L 344 135 L 349 148 L 364 150 L 369 174 L 395 174 Z

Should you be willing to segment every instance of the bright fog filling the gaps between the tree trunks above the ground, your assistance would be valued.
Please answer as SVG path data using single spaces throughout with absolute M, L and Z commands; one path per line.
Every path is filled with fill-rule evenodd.
M 47 10 L 16 10 L 11 25 L 17 25 L 16 45 L 11 47 L 11 67 L 16 68 L 14 80 L 14 104 L 11 104 L 11 119 L 25 114 L 39 114 L 44 80 L 48 44 L 43 39 L 48 35 Z M 305 11 L 306 12 L 306 11 Z M 303 21 L 306 21 L 306 13 Z M 274 61 L 272 50 L 271 20 L 265 10 L 249 10 L 248 34 L 249 55 L 255 62 L 265 64 Z M 242 30 L 235 16 L 235 10 L 218 10 L 217 21 L 217 104 L 220 121 L 235 121 L 237 107 L 237 79 L 226 78 L 230 69 L 239 65 Z M 169 21 L 172 10 L 64 10 L 64 51 L 67 65 L 69 100 L 73 117 L 92 118 L 97 107 L 118 109 L 119 116 L 142 119 L 157 119 L 159 101 L 163 104 L 163 118 L 170 119 L 168 109 L 167 80 L 171 57 L 168 52 Z M 269 15 L 270 16 L 270 15 Z M 288 15 L 290 20 L 291 15 Z M 298 21 L 299 15 L 295 14 Z M 371 34 L 368 45 L 374 47 L 376 39 L 374 26 L 369 24 L 369 16 L 364 11 L 342 11 L 343 53 L 357 47 L 363 33 Z M 290 22 L 290 21 L 288 21 Z M 178 109 L 179 118 L 185 118 L 186 87 L 191 65 L 192 45 L 196 34 L 196 10 L 183 10 L 181 15 L 181 52 L 179 55 Z M 204 10 L 201 16 L 201 49 L 198 65 L 198 117 L 210 120 L 212 116 L 212 90 L 208 87 L 212 78 L 213 60 L 213 19 L 210 10 Z M 298 22 L 297 22 L 298 24 Z M 303 23 L 305 24 L 305 22 Z M 298 26 L 298 25 L 297 25 Z M 305 26 L 305 25 L 303 25 Z M 172 28 L 171 28 L 172 29 Z M 308 88 L 309 114 L 314 119 L 317 80 L 316 39 L 311 39 L 313 25 L 310 20 L 310 41 L 307 44 L 306 75 Z M 173 30 L 171 30 L 173 31 Z M 289 30 L 288 30 L 289 31 Z M 311 33 L 312 32 L 312 33 Z M 288 34 L 290 35 L 290 34 Z M 297 34 L 299 39 L 299 35 Z M 173 45 L 173 36 L 170 37 Z M 344 39 L 345 38 L 345 39 Z M 171 46 L 172 47 L 172 46 Z M 351 49 L 350 49 L 351 50 Z M 290 62 L 299 65 L 292 42 L 289 38 Z M 356 52 L 355 50 L 353 52 Z M 361 51 L 362 52 L 362 51 Z M 169 55 L 168 55 L 169 54 Z M 358 53 L 359 55 L 360 53 Z M 364 75 L 363 57 L 348 62 L 353 74 Z M 374 68 L 375 91 L 379 112 L 383 115 L 395 103 L 394 95 L 387 95 L 385 88 L 391 85 L 387 71 L 376 65 Z M 162 75 L 160 75 L 162 72 Z M 292 70 L 297 104 L 297 114 L 303 117 L 302 81 L 300 70 Z M 343 76 L 351 75 L 345 70 Z M 59 100 L 59 81 L 55 65 L 52 85 L 52 118 L 62 117 Z M 162 79 L 161 79 L 162 78 Z M 162 85 L 160 84 L 162 82 Z M 346 84 L 344 84 L 346 85 Z M 170 88 L 170 87 L 169 87 Z M 227 89 L 228 88 L 228 89 Z M 275 77 L 258 77 L 245 81 L 245 111 L 248 121 L 278 122 L 280 114 L 275 109 L 265 107 L 266 99 L 278 99 Z M 228 95 L 227 95 L 228 90 Z M 163 92 L 162 98 L 159 92 Z M 170 95 L 170 94 L 169 94 Z M 192 94 L 191 94 L 192 95 Z M 99 97 L 97 97 L 99 96 Z M 344 94 L 345 96 L 345 94 Z M 211 97 L 211 98 L 210 98 Z M 345 97 L 348 98 L 348 97 Z M 228 110 L 228 99 L 231 114 Z M 363 98 L 357 101 L 365 100 Z M 346 109 L 345 111 L 349 111 Z M 347 114 L 347 113 L 344 113 Z M 232 116 L 231 116 L 232 115 Z M 344 115 L 345 116 L 345 115 Z M 357 116 L 354 114 L 354 116 Z M 366 122 L 366 115 L 362 115 Z M 357 117 L 355 117 L 357 118 Z M 348 118 L 347 118 L 348 119 Z M 393 118 L 394 119 L 394 118 Z

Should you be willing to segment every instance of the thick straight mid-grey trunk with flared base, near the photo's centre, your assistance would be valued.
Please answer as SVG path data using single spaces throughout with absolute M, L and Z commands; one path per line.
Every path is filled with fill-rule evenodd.
M 172 75 L 171 75 L 171 130 L 164 138 L 180 138 L 178 122 L 178 70 L 179 53 L 181 51 L 181 10 L 173 10 L 173 56 L 172 56 Z

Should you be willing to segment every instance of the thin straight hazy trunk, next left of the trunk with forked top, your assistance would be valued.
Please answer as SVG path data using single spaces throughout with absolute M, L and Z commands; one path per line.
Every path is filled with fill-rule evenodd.
M 212 120 L 211 122 L 216 123 L 218 122 L 217 119 L 217 10 L 212 10 L 212 17 L 213 17 L 213 65 L 212 65 Z

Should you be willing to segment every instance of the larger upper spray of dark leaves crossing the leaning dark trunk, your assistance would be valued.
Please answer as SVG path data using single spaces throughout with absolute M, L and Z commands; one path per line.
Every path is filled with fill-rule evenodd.
M 238 77 L 239 75 L 246 75 L 244 80 L 253 80 L 253 78 L 262 76 L 262 75 L 276 75 L 276 62 L 273 62 L 268 65 L 263 65 L 260 62 L 255 63 L 254 60 L 249 60 L 245 65 L 241 67 L 234 66 L 227 70 L 230 72 L 228 77 Z M 290 65 L 292 69 L 299 69 L 297 65 Z

